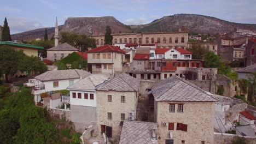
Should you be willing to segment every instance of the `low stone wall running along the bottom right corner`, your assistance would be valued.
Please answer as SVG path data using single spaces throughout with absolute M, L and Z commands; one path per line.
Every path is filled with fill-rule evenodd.
M 232 140 L 235 140 L 237 137 L 242 137 L 233 134 L 221 134 L 221 133 L 214 133 L 214 143 L 216 144 L 232 144 Z M 256 137 L 245 137 L 247 144 L 254 144 L 256 143 Z

